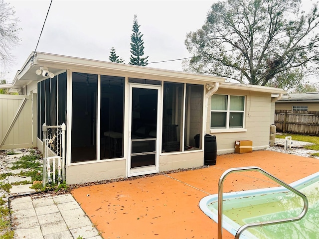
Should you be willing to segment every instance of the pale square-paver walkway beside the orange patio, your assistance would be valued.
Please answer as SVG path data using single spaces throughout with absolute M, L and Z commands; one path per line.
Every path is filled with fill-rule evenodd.
M 10 208 L 16 239 L 102 239 L 70 194 L 15 198 Z

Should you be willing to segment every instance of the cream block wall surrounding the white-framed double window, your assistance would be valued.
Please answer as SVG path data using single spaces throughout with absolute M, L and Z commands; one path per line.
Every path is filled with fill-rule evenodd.
M 215 94 L 246 97 L 244 128 L 227 132 L 210 129 L 211 101 L 208 100 L 206 133 L 216 135 L 217 154 L 233 153 L 236 140 L 252 140 L 253 150 L 269 147 L 270 124 L 274 120 L 271 94 L 226 89 L 219 89 Z

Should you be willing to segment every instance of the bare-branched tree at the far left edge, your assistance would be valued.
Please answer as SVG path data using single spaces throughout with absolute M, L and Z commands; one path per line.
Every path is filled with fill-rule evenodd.
M 2 65 L 12 61 L 10 49 L 18 44 L 20 38 L 17 27 L 18 18 L 9 3 L 0 0 L 0 61 Z

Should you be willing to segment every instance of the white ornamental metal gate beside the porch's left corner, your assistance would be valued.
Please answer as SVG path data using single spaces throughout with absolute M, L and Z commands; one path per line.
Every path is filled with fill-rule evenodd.
M 46 183 L 55 183 L 55 179 L 58 185 L 65 181 L 65 128 L 65 123 L 53 126 L 45 123 L 42 125 L 43 187 Z

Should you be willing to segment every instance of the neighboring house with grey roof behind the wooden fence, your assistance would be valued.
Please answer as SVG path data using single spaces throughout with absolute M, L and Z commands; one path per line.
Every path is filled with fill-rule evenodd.
M 275 110 L 319 111 L 319 92 L 289 94 L 289 98 L 276 102 Z

